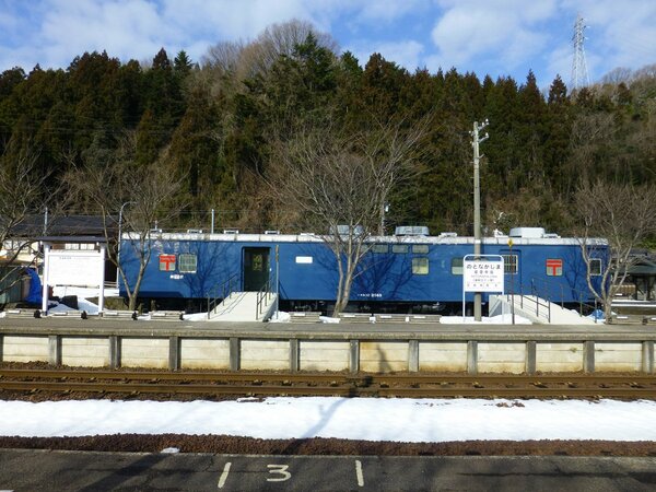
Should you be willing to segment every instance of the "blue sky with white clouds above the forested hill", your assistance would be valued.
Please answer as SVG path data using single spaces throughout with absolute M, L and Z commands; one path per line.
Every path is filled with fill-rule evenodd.
M 532 69 L 546 87 L 557 73 L 570 82 L 578 12 L 593 82 L 656 63 L 656 0 L 0 0 L 0 71 L 66 68 L 103 49 L 124 61 L 161 47 L 200 60 L 219 42 L 300 19 L 361 65 L 377 51 L 410 71 L 455 67 L 523 82 Z

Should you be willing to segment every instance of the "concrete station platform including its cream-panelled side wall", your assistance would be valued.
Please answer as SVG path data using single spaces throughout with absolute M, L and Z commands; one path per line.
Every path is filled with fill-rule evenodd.
M 654 373 L 640 325 L 0 319 L 0 361 L 163 370 Z

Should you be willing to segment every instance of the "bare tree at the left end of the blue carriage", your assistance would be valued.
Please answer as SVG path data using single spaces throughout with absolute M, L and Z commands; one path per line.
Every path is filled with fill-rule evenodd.
M 127 136 L 106 162 L 87 160 L 82 168 L 68 174 L 71 192 L 77 200 L 86 201 L 101 211 L 107 255 L 116 266 L 128 295 L 128 308 L 134 311 L 145 268 L 152 255 L 149 244 L 156 223 L 166 224 L 178 215 L 175 197 L 183 188 L 183 178 L 176 177 L 166 151 L 159 160 L 147 165 L 134 164 L 134 138 Z M 120 221 L 120 224 L 118 223 Z M 120 225 L 124 241 L 114 234 Z M 138 273 L 129 279 L 120 255 L 130 254 L 139 261 Z M 129 248 L 129 251 L 126 250 Z

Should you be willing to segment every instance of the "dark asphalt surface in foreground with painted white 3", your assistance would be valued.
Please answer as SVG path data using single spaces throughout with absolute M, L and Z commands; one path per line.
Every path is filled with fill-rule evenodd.
M 653 491 L 656 458 L 323 457 L 0 449 L 12 491 Z

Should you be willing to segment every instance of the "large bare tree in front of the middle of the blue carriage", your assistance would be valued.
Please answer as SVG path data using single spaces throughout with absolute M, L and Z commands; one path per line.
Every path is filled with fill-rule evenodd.
M 391 190 L 418 174 L 420 141 L 430 118 L 409 129 L 378 125 L 356 134 L 336 126 L 304 128 L 272 148 L 269 185 L 279 201 L 297 213 L 297 223 L 316 227 L 335 254 L 338 285 L 332 315 L 349 303 L 366 239 L 380 223 Z

